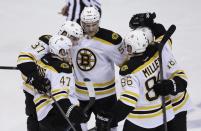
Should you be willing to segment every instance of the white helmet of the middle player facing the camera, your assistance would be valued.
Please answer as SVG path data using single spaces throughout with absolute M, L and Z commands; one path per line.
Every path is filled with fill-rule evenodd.
M 100 13 L 95 7 L 84 7 L 81 13 L 81 22 L 94 23 L 100 20 Z

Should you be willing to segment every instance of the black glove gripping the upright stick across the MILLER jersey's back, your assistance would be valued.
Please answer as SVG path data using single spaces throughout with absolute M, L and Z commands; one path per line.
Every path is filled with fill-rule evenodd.
M 153 86 L 156 95 L 166 96 L 176 94 L 176 85 L 174 80 L 162 80 Z

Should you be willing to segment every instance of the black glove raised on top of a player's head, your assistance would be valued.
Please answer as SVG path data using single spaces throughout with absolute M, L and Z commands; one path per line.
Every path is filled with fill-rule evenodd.
M 151 28 L 154 24 L 154 19 L 156 18 L 155 12 L 153 13 L 139 13 L 132 16 L 129 22 L 129 27 L 131 29 L 136 29 L 139 26 L 146 26 Z

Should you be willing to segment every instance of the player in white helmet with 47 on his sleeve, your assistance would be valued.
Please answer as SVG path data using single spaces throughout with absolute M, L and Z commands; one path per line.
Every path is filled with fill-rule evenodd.
M 83 111 L 77 105 L 71 104 L 68 98 L 71 86 L 75 86 L 70 55 L 71 47 L 71 40 L 67 37 L 52 36 L 49 40 L 50 53 L 37 62 L 38 69 L 41 69 L 39 77 L 45 81 L 45 83 L 37 85 L 39 92 L 34 92 L 36 113 L 42 131 L 64 131 L 68 128 L 67 121 L 58 110 L 52 96 L 71 122 L 85 121 Z M 35 85 L 35 81 L 30 81 L 30 84 Z M 48 96 L 48 91 L 46 91 L 48 89 L 52 96 Z

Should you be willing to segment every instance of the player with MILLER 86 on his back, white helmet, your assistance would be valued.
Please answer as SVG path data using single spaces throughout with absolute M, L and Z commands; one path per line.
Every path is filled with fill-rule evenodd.
M 126 118 L 124 131 L 163 131 L 161 96 L 165 96 L 167 125 L 174 129 L 174 109 L 171 97 L 186 90 L 184 72 L 176 63 L 169 44 L 162 51 L 164 80 L 159 82 L 158 43 L 150 44 L 142 28 L 125 37 L 130 59 L 121 67 L 123 92 L 113 108 L 113 121 Z

